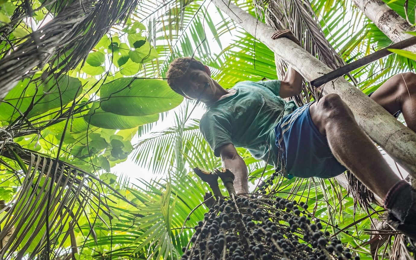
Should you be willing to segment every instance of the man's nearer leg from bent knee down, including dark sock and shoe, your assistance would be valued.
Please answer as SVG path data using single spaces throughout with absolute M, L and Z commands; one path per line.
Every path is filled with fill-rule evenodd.
M 312 104 L 309 111 L 319 132 L 327 136 L 335 158 L 384 198 L 389 225 L 416 241 L 416 191 L 391 170 L 349 107 L 337 94 L 329 94 Z

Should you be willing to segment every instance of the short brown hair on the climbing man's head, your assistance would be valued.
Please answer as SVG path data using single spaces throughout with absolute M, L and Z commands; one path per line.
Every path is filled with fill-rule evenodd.
M 202 62 L 191 58 L 176 58 L 169 65 L 168 72 L 166 72 L 166 78 L 168 79 L 168 85 L 173 89 L 174 92 L 184 95 L 180 86 L 181 80 L 186 75 L 189 69 L 200 69 L 205 71 L 204 64 Z

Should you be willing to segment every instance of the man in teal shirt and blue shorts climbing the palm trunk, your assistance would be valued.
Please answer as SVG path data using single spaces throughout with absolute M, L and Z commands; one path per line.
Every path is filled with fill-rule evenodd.
M 290 30 L 272 34 L 272 39 L 279 37 L 300 45 Z M 175 92 L 206 104 L 200 130 L 215 156 L 234 173 L 238 195 L 248 193 L 248 171 L 236 146 L 282 169 L 286 178 L 331 178 L 349 169 L 384 198 L 390 225 L 416 240 L 416 191 L 391 170 L 337 94 L 297 108 L 284 100 L 301 92 L 303 77 L 292 68 L 282 80 L 239 82 L 227 90 L 210 74 L 201 62 L 178 58 L 166 76 Z M 416 131 L 416 74 L 391 77 L 371 99 L 391 114 L 401 111 Z

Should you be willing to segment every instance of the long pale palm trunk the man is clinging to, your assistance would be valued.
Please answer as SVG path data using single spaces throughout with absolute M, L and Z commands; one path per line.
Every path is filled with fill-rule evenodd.
M 295 68 L 307 81 L 312 81 L 328 72 L 329 67 L 292 41 L 280 38 L 272 40 L 274 30 L 252 15 L 223 0 L 213 0 L 214 4 L 227 13 L 251 35 L 255 35 L 278 57 Z M 379 104 L 369 99 L 359 89 L 353 87 L 343 77 L 322 86 L 323 94 L 338 94 L 350 107 L 359 126 L 376 141 L 392 158 L 400 163 L 413 177 L 416 177 L 416 134 L 388 114 Z

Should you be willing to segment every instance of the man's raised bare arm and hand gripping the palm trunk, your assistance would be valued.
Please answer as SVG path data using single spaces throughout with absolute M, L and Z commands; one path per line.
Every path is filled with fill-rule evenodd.
M 289 40 L 292 40 L 297 45 L 300 46 L 300 41 L 297 40 L 295 35 L 290 30 L 277 30 L 273 32 L 272 39 L 278 39 L 285 37 Z M 299 95 L 302 92 L 302 81 L 303 77 L 295 69 L 289 67 L 285 74 L 285 77 L 280 82 L 280 92 L 279 96 L 282 98 L 293 97 Z

